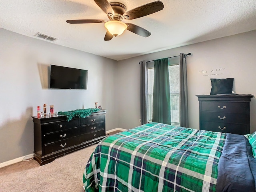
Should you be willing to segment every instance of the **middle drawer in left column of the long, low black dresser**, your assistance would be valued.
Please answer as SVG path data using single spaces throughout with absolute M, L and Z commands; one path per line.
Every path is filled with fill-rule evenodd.
M 60 132 L 54 132 L 51 134 L 44 134 L 43 143 L 48 144 L 56 141 L 68 139 L 79 134 L 79 128 L 67 129 Z

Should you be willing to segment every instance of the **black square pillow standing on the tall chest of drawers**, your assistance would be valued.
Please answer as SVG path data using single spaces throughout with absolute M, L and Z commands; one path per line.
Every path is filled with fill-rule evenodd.
M 232 94 L 234 78 L 211 79 L 211 82 L 212 82 L 211 95 Z

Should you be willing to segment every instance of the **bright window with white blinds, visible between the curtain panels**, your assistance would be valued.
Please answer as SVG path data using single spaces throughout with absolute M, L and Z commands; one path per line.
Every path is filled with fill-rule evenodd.
M 171 122 L 180 125 L 180 64 L 169 65 Z M 154 67 L 148 68 L 148 121 L 152 122 Z

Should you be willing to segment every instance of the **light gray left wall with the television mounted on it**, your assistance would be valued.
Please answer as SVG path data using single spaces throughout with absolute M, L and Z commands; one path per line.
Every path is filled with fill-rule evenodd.
M 50 64 L 88 70 L 87 90 L 48 89 Z M 117 62 L 30 38 L 0 28 L 0 163 L 34 151 L 33 122 L 37 106 L 54 111 L 94 108 L 106 113 L 106 130 L 117 128 L 115 75 Z

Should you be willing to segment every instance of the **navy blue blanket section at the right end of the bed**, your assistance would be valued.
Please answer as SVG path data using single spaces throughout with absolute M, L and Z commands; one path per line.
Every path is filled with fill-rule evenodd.
M 255 192 L 256 159 L 243 135 L 227 134 L 218 163 L 217 192 Z

